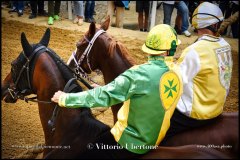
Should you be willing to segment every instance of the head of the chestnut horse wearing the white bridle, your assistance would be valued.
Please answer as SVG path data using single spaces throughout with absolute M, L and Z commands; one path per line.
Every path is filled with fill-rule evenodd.
M 97 44 L 94 44 L 95 40 L 97 41 L 98 36 L 104 33 L 110 24 L 110 17 L 97 27 L 94 22 L 89 26 L 89 30 L 84 34 L 83 38 L 80 39 L 76 44 L 76 51 L 69 58 L 67 64 L 70 68 L 76 69 L 80 67 L 80 72 L 91 73 L 95 69 L 99 69 L 97 66 L 97 59 L 94 57 L 94 53 L 97 53 Z

